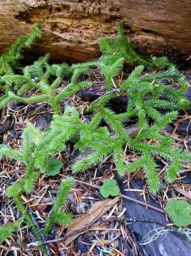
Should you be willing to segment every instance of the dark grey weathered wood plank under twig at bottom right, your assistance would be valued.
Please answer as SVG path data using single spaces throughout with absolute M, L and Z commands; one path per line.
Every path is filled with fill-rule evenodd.
M 127 188 L 124 187 L 123 180 L 118 179 L 118 185 L 120 187 L 122 194 L 144 202 L 143 196 L 139 196 L 138 192 L 124 191 L 124 189 Z M 130 188 L 143 189 L 140 185 L 138 185 L 135 182 L 135 180 L 130 182 Z M 135 202 L 127 200 L 125 198 L 123 198 L 123 201 L 125 207 L 127 208 L 126 217 L 128 218 L 157 219 L 164 223 L 168 223 L 165 218 L 165 215 L 161 212 L 158 212 L 150 208 L 146 209 L 141 204 L 136 204 Z M 151 197 L 149 197 L 148 204 L 161 209 L 160 204 L 155 203 Z M 155 226 L 155 228 L 159 227 L 161 226 Z M 149 231 L 154 229 L 154 224 L 148 222 L 135 222 L 132 224 L 128 224 L 128 228 L 134 231 L 137 242 L 141 243 L 143 237 L 147 235 Z M 185 256 L 190 255 L 191 253 L 191 243 L 189 243 L 183 236 L 176 235 L 175 233 L 170 231 L 167 234 L 159 236 L 158 239 L 154 240 L 152 243 L 149 243 L 147 245 L 141 246 L 138 243 L 136 244 L 138 245 L 137 250 L 139 256 Z

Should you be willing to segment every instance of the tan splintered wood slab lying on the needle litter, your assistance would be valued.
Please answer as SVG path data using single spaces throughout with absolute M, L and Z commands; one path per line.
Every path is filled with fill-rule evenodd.
M 93 204 L 93 208 L 91 210 L 91 214 L 86 214 L 84 216 L 80 216 L 77 219 L 75 219 L 68 227 L 67 234 L 72 233 L 75 230 L 78 230 L 80 228 L 85 228 L 96 222 L 98 219 L 101 218 L 105 213 L 107 213 L 108 210 L 110 210 L 113 205 L 115 205 L 120 200 L 120 197 L 117 196 L 113 199 L 107 198 L 104 201 L 98 201 L 95 204 Z M 65 246 L 70 244 L 76 237 L 79 236 L 80 233 L 75 234 L 71 237 L 69 237 L 65 241 Z

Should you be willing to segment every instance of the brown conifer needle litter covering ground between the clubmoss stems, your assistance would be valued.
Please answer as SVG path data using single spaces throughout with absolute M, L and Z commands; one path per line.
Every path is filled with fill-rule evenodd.
M 125 77 L 131 70 L 127 70 L 123 73 Z M 148 70 L 149 72 L 149 70 Z M 191 70 L 182 71 L 187 77 L 188 82 L 191 84 Z M 119 79 L 121 79 L 119 75 Z M 101 90 L 104 88 L 104 79 L 97 69 L 92 70 L 87 76 L 82 76 L 81 79 L 90 80 L 93 82 L 93 87 L 89 88 L 89 91 Z M 167 81 L 169 82 L 169 81 Z M 63 77 L 62 85 L 57 88 L 60 91 L 66 84 L 68 84 L 68 77 Z M 87 91 L 87 89 L 86 89 Z M 27 92 L 26 97 L 36 94 L 37 91 L 31 89 Z M 91 115 L 83 115 L 85 106 L 89 106 L 90 100 L 86 101 L 81 97 L 81 92 L 74 95 L 70 104 L 72 103 L 81 113 L 82 120 L 89 122 Z M 92 99 L 94 100 L 94 99 Z M 115 111 L 121 111 L 120 103 L 114 104 Z M 63 104 L 64 110 L 64 104 Z M 53 110 L 48 103 L 38 103 L 24 105 L 23 103 L 11 103 L 7 108 L 3 108 L 0 112 L 0 143 L 9 145 L 13 149 L 21 148 L 21 135 L 23 129 L 27 123 L 32 123 L 38 127 L 41 131 L 46 130 L 53 116 Z M 125 125 L 132 126 L 136 123 L 136 120 L 130 120 Z M 191 148 L 191 113 L 182 112 L 179 118 L 165 131 L 167 136 L 173 136 L 175 138 L 175 146 L 190 150 Z M 111 155 L 110 155 L 111 156 Z M 75 229 L 81 229 L 86 227 L 88 220 L 92 219 L 93 222 L 98 222 L 96 226 L 87 228 L 87 230 L 80 232 L 77 237 L 70 237 L 66 241 L 50 242 L 49 248 L 51 255 L 140 255 L 137 238 L 131 229 L 130 225 L 126 222 L 119 220 L 113 220 L 113 218 L 122 218 L 129 216 L 131 209 L 128 204 L 123 201 L 123 197 L 104 199 L 98 189 L 98 186 L 103 184 L 103 180 L 110 177 L 117 177 L 115 172 L 115 165 L 113 160 L 108 156 L 106 159 L 96 167 L 89 170 L 75 174 L 74 178 L 76 183 L 69 195 L 69 200 L 65 205 L 65 209 L 71 213 L 76 220 Z M 81 155 L 73 149 L 71 143 L 67 144 L 67 150 L 56 154 L 56 158 L 64 162 L 64 167 L 54 177 L 47 177 L 45 174 L 40 174 L 36 183 L 35 189 L 30 195 L 23 194 L 21 199 L 26 206 L 26 211 L 31 210 L 34 219 L 38 222 L 40 228 L 43 228 L 46 223 L 46 218 L 51 213 L 51 205 L 53 198 L 59 188 L 61 179 L 66 176 L 71 176 L 70 170 L 71 163 L 76 161 Z M 131 159 L 136 158 L 135 152 L 124 150 L 124 159 L 126 162 L 130 162 Z M 139 184 L 139 189 L 134 189 L 133 193 L 136 193 L 139 201 L 143 201 L 145 205 L 142 205 L 144 209 L 147 209 L 150 204 L 150 198 L 154 198 L 159 202 L 159 209 L 164 210 L 167 201 L 172 198 L 182 198 L 191 201 L 191 166 L 184 165 L 180 171 L 179 177 L 176 179 L 174 185 L 169 185 L 164 180 L 164 171 L 168 166 L 168 163 L 158 158 L 157 164 L 159 166 L 159 173 L 161 177 L 161 190 L 155 197 L 150 195 L 147 187 L 147 183 L 144 179 L 144 173 L 142 170 L 138 170 L 136 173 L 131 174 L 123 179 L 126 195 L 128 192 L 132 192 L 130 183 L 134 180 Z M 22 162 L 13 161 L 10 158 L 3 157 L 0 163 L 0 223 L 8 224 L 15 222 L 19 218 L 20 213 L 17 210 L 13 199 L 8 199 L 4 192 L 7 186 L 10 186 L 16 180 L 21 180 L 25 174 L 25 167 Z M 117 179 L 120 179 L 117 177 Z M 123 188 L 118 184 L 121 194 L 124 194 Z M 129 189 L 129 190 L 128 190 Z M 81 203 L 85 204 L 81 204 Z M 77 206 L 80 206 L 77 208 Z M 76 210 L 77 209 L 77 210 Z M 86 213 L 81 214 L 82 211 Z M 136 216 L 135 216 L 136 217 Z M 78 219 L 77 219 L 78 218 Z M 154 216 L 153 216 L 154 219 Z M 170 219 L 166 216 L 166 219 Z M 170 221 L 171 222 L 171 221 Z M 67 232 L 67 226 L 54 225 L 52 231 L 47 240 L 59 239 L 64 237 Z M 69 226 L 71 231 L 72 226 Z M 147 232 L 149 232 L 148 230 Z M 32 248 L 17 248 L 13 247 L 13 244 L 24 247 L 25 245 L 36 241 L 33 232 L 30 227 L 23 223 L 19 227 L 17 234 L 14 234 L 10 239 L 0 243 L 0 255 L 41 255 L 41 247 L 33 246 Z

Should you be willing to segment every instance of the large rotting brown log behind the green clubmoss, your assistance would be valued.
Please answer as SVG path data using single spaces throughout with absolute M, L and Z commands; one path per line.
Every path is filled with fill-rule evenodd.
M 38 23 L 43 37 L 28 56 L 50 52 L 55 61 L 93 59 L 98 37 L 114 37 L 115 22 L 121 21 L 141 53 L 185 59 L 191 53 L 190 7 L 191 0 L 0 0 L 0 54 Z

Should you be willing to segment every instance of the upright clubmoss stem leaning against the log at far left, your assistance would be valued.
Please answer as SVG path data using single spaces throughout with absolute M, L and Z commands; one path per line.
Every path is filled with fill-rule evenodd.
M 22 58 L 21 49 L 24 46 L 30 47 L 33 41 L 41 36 L 42 32 L 39 29 L 39 26 L 35 25 L 31 34 L 17 39 L 16 42 L 10 47 L 9 52 L 4 53 L 0 57 L 0 88 L 5 89 L 5 94 L 0 97 L 0 101 L 7 97 L 8 91 L 13 90 L 12 84 L 4 81 L 1 76 L 14 75 L 13 69 L 17 64 L 17 61 Z

